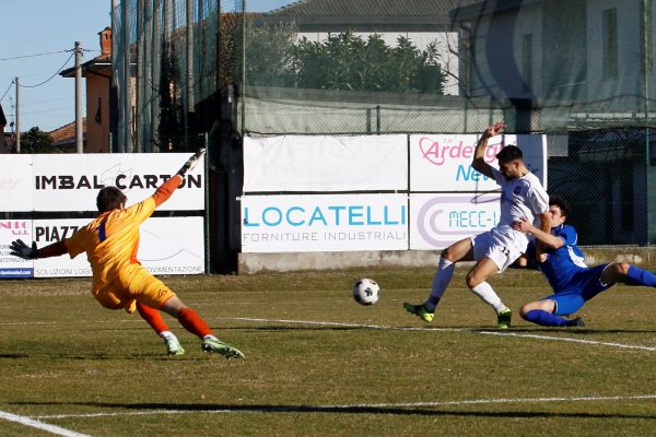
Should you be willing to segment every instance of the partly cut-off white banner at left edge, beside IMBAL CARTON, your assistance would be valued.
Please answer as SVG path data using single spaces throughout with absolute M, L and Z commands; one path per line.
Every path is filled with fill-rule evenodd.
M 32 211 L 32 155 L 0 156 L 0 211 Z

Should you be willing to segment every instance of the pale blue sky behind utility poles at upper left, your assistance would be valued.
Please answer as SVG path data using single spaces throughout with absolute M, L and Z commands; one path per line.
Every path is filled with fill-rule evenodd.
M 246 8 L 267 12 L 293 2 L 246 0 Z M 5 131 L 13 131 L 9 123 L 15 114 L 14 78 L 21 84 L 22 132 L 33 127 L 49 132 L 75 120 L 75 80 L 57 73 L 74 66 L 70 50 L 75 42 L 90 50 L 83 51 L 82 62 L 99 55 L 98 32 L 112 25 L 110 8 L 112 0 L 0 0 L 0 104 Z

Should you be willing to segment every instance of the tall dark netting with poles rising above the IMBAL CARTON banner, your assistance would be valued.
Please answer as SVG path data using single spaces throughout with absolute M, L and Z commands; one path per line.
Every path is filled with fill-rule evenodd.
M 179 138 L 209 130 L 220 8 L 214 0 L 124 0 L 114 8 L 116 150 L 188 150 Z

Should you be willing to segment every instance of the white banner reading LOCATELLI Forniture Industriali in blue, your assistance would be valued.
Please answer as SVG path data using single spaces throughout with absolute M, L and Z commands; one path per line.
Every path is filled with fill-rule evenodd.
M 406 194 L 242 197 L 243 252 L 408 249 Z

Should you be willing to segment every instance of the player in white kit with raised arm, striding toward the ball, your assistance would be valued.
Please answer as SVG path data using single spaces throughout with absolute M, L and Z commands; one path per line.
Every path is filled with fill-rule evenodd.
M 505 128 L 497 122 L 483 132 L 479 140 L 471 167 L 492 178 L 501 186 L 501 218 L 492 229 L 471 238 L 454 243 L 442 251 L 437 263 L 437 272 L 433 277 L 433 287 L 429 298 L 423 304 L 403 304 L 408 312 L 418 316 L 423 321 L 433 321 L 435 308 L 454 275 L 456 262 L 476 261 L 466 277 L 467 286 L 496 311 L 496 322 L 500 329 L 511 326 L 512 311 L 494 293 L 488 280 L 494 274 L 502 273 L 522 253 L 526 251 L 528 239 L 525 234 L 513 229 L 513 222 L 527 217 L 538 218 L 540 228 L 550 231 L 549 196 L 539 179 L 531 174 L 522 151 L 514 145 L 503 147 L 497 154 L 499 169 L 484 160 L 488 140 Z M 543 251 L 538 246 L 536 256 Z

